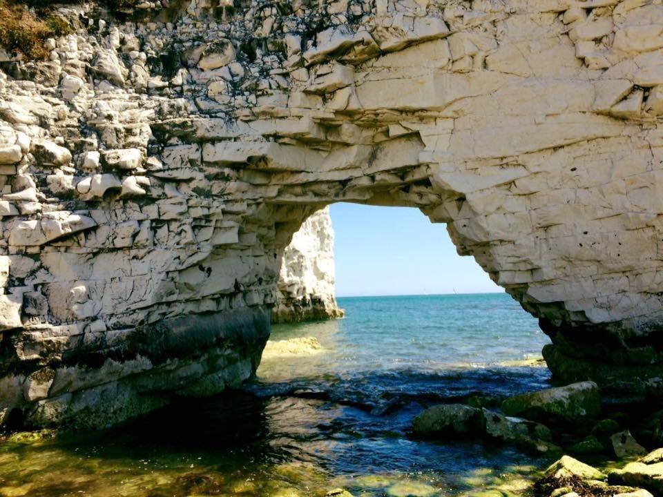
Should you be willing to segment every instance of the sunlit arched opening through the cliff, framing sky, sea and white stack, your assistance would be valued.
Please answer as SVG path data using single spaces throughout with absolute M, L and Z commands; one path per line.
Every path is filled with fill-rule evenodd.
M 330 351 L 341 362 L 352 358 L 347 367 L 378 370 L 515 364 L 536 362 L 548 342 L 473 257 L 459 255 L 445 224 L 415 208 L 333 204 L 317 211 L 285 250 L 279 291 L 267 364 L 305 356 L 310 369 L 322 360 L 314 356 Z M 337 309 L 345 320 L 320 322 Z M 314 323 L 278 325 L 305 321 Z M 283 378 L 294 366 L 276 365 L 284 367 Z

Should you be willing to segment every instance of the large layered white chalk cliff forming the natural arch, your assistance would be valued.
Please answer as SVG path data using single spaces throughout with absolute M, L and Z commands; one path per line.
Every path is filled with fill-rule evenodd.
M 247 378 L 332 202 L 446 223 L 556 376 L 660 387 L 660 1 L 216 5 L 72 3 L 47 61 L 3 63 L 0 422 Z

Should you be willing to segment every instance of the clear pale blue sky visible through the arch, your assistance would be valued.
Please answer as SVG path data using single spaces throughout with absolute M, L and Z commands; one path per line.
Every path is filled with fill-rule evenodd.
M 445 224 L 415 208 L 334 204 L 336 294 L 420 295 L 503 291 L 456 252 Z

